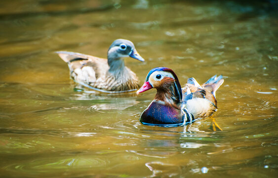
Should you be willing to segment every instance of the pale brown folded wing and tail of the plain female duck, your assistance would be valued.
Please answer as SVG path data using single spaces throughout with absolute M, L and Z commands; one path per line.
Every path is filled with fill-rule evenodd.
M 78 52 L 57 51 L 58 55 L 68 63 L 70 75 L 78 83 L 90 85 L 105 77 L 109 69 L 107 59 Z

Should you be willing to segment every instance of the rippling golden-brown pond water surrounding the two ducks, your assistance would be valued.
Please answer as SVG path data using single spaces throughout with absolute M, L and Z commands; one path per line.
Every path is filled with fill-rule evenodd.
M 155 90 L 75 89 L 54 51 L 106 57 L 118 38 L 181 84 L 225 77 L 213 118 L 187 127 L 139 123 Z M 276 178 L 276 0 L 1 0 L 0 177 Z

